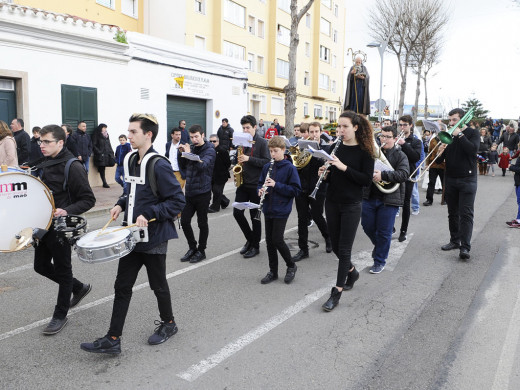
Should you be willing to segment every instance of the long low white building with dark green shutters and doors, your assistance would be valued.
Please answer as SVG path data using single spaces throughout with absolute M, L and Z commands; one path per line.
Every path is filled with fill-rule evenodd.
M 239 128 L 247 112 L 247 66 L 184 45 L 66 15 L 0 3 L 0 119 L 33 126 L 106 123 L 112 144 L 134 112 L 157 116 L 164 152 L 179 120 L 216 132 L 223 117 Z M 107 177 L 112 177 L 110 173 Z M 91 171 L 91 183 L 97 175 Z

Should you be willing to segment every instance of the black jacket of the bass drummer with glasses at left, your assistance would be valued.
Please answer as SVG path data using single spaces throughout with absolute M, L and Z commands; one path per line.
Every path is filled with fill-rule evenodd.
M 74 158 L 67 148 L 63 148 L 56 157 L 49 157 L 45 161 L 65 158 Z M 56 208 L 64 209 L 72 215 L 83 214 L 96 204 L 96 197 L 88 183 L 87 171 L 80 161 L 73 162 L 69 170 L 67 189 L 64 191 L 65 164 L 66 161 L 43 168 L 42 181 L 51 190 Z

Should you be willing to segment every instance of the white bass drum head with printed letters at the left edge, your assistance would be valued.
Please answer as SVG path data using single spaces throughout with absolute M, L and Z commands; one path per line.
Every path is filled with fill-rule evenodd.
M 48 229 L 54 200 L 37 177 L 17 168 L 0 173 L 0 252 L 10 252 L 11 242 L 26 228 Z

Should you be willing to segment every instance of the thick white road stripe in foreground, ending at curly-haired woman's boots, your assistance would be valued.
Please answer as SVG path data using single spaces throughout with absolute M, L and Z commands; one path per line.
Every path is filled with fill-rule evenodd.
M 272 317 L 267 322 L 260 325 L 258 328 L 246 333 L 236 341 L 229 343 L 216 354 L 211 355 L 207 359 L 202 360 L 199 363 L 191 366 L 186 371 L 177 374 L 177 376 L 188 382 L 193 382 L 198 377 L 211 370 L 213 367 L 216 367 L 224 360 L 240 351 L 242 348 L 251 344 L 252 342 L 259 339 L 270 330 L 276 328 L 278 325 L 282 324 L 295 314 L 299 313 L 301 310 L 305 309 L 307 306 L 316 302 L 319 298 L 327 294 L 329 291 L 330 286 L 320 288 L 319 290 L 314 291 L 312 294 L 307 295 L 305 298 L 296 302 L 296 304 L 288 307 L 280 314 Z

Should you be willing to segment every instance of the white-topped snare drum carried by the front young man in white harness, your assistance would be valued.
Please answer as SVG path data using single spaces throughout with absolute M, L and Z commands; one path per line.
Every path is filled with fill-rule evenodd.
M 75 249 L 81 261 L 94 264 L 117 260 L 134 249 L 137 241 L 130 229 L 109 227 L 103 233 L 101 230 L 87 233 L 76 242 Z

